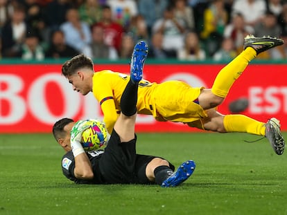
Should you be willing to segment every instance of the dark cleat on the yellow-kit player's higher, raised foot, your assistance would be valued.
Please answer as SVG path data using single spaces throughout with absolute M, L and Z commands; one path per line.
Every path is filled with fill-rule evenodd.
M 244 38 L 244 49 L 252 47 L 256 50 L 257 55 L 275 46 L 281 46 L 282 44 L 284 44 L 282 39 L 269 36 L 254 37 L 254 35 L 247 35 Z

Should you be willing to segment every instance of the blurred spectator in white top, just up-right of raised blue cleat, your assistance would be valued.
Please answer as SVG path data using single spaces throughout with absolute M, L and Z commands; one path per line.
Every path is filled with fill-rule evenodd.
M 164 35 L 163 48 L 168 51 L 180 50 L 184 45 L 184 32 L 186 26 L 181 19 L 175 17 L 175 10 L 168 6 L 164 17 L 157 19 L 153 26 L 153 34 L 160 32 Z

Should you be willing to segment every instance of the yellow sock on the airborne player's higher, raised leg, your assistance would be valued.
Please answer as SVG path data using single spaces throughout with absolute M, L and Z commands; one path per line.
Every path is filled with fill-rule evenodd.
M 243 52 L 225 66 L 216 76 L 211 92 L 219 97 L 226 97 L 232 84 L 243 73 L 249 62 L 256 57 L 256 51 L 247 47 Z

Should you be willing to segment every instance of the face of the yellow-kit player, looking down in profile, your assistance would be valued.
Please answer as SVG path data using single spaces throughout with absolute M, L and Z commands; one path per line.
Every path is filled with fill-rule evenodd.
M 69 83 L 73 85 L 73 91 L 77 91 L 82 95 L 87 95 L 87 93 L 89 93 L 89 85 L 87 84 L 87 79 L 85 79 L 83 73 L 78 72 L 75 75 L 69 75 L 67 79 L 69 80 Z

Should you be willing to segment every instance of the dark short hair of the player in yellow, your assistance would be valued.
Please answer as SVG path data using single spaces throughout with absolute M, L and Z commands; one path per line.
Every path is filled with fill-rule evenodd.
M 71 59 L 67 60 L 67 62 L 64 62 L 62 66 L 62 75 L 64 75 L 64 77 L 73 75 L 80 68 L 89 68 L 93 71 L 94 63 L 92 62 L 92 59 L 83 54 L 72 57 Z

